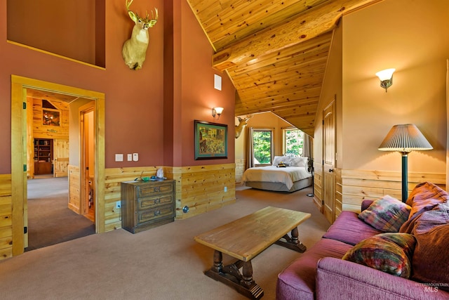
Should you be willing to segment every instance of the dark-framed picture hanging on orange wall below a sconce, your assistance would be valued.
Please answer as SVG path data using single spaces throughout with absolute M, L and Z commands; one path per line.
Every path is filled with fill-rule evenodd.
M 227 125 L 195 120 L 195 159 L 227 158 Z

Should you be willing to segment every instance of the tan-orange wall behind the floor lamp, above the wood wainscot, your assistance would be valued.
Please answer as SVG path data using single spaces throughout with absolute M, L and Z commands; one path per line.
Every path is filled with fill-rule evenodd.
M 401 171 L 377 150 L 395 124 L 415 124 L 434 150 L 408 155 L 408 171 L 445 173 L 449 5 L 385 0 L 343 20 L 342 168 Z M 395 67 L 385 90 L 375 72 Z

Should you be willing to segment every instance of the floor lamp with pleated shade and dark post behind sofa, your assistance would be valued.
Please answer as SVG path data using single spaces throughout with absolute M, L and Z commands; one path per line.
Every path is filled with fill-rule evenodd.
M 408 198 L 407 156 L 413 150 L 431 150 L 430 143 L 414 124 L 394 125 L 379 146 L 381 151 L 398 151 L 402 154 L 402 202 Z

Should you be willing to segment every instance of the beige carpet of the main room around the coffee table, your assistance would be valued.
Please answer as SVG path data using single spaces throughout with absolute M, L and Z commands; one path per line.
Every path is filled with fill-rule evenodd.
M 0 261 L 1 299 L 246 299 L 203 274 L 213 249 L 193 240 L 267 206 L 307 211 L 300 240 L 310 247 L 330 225 L 312 203 L 311 188 L 295 193 L 241 189 L 236 203 L 133 235 L 89 235 Z M 274 299 L 277 274 L 301 254 L 272 245 L 253 259 L 262 299 Z M 225 262 L 232 261 L 224 255 Z

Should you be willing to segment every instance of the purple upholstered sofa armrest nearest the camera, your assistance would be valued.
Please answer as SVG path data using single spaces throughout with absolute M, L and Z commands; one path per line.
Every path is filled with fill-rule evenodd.
M 316 299 L 448 299 L 449 293 L 358 263 L 325 257 L 318 262 Z

